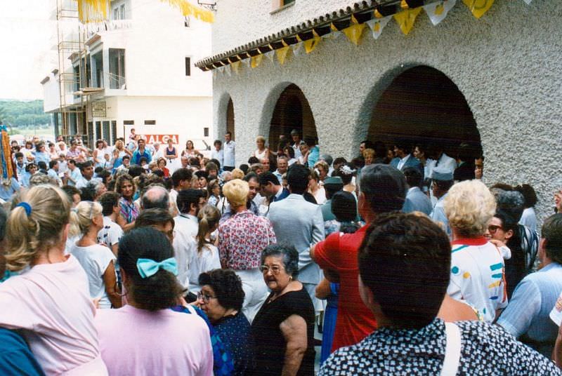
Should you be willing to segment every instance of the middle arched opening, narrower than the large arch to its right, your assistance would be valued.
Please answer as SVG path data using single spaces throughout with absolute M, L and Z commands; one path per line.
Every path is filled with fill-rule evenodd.
M 270 147 L 277 147 L 281 135 L 290 142 L 293 129 L 299 131 L 301 139 L 315 137 L 318 140 L 311 106 L 299 86 L 291 83 L 282 91 L 273 109 L 268 140 Z

